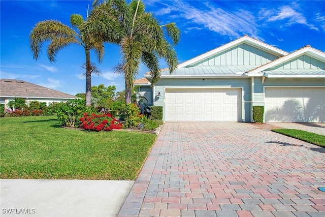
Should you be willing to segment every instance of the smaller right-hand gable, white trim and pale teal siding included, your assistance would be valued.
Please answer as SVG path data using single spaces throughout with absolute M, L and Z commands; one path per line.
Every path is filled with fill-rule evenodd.
M 325 53 L 308 45 L 268 64 L 252 69 L 248 75 L 257 76 L 261 72 L 275 74 L 277 71 L 278 73 L 287 71 L 288 74 L 294 71 L 296 74 L 303 71 L 304 74 L 315 74 L 315 72 L 317 72 L 316 74 L 325 74 Z

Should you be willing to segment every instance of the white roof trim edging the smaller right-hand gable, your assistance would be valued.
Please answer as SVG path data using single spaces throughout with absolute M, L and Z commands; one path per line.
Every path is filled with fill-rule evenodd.
M 312 57 L 319 58 L 320 60 L 323 60 L 325 62 L 325 53 L 323 53 L 323 52 L 321 52 L 319 50 L 316 50 L 316 49 L 314 49 L 312 47 L 307 46 L 307 47 L 301 48 L 300 50 L 289 53 L 286 56 L 275 59 L 275 60 L 271 61 L 268 64 L 265 64 L 265 65 L 263 65 L 261 67 L 257 67 L 256 69 L 253 69 L 253 70 L 249 71 L 248 76 L 258 76 L 259 72 L 262 72 L 264 70 L 270 69 L 270 68 L 275 67 L 275 66 L 278 66 L 278 65 L 280 65 L 282 63 L 285 63 L 286 61 L 288 61 L 290 59 L 296 58 L 296 57 L 301 56 L 303 54 L 307 54 L 307 55 L 310 55 Z

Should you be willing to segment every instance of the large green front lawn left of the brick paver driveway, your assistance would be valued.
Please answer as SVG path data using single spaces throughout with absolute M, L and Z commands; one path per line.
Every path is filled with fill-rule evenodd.
M 0 178 L 135 180 L 156 135 L 61 128 L 56 116 L 0 118 Z

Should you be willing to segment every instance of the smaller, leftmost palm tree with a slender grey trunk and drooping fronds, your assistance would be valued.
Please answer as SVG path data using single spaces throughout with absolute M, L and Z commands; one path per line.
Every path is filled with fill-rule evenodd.
M 45 41 L 49 41 L 50 43 L 47 47 L 47 56 L 52 63 L 55 62 L 57 52 L 68 45 L 78 44 L 85 49 L 86 105 L 89 106 L 91 105 L 92 72 L 90 50 L 94 50 L 98 57 L 98 61 L 101 62 L 104 55 L 104 42 L 100 38 L 89 33 L 81 32 L 80 26 L 86 25 L 89 22 L 88 20 L 84 20 L 81 15 L 72 14 L 70 17 L 70 22 L 74 28 L 71 28 L 68 25 L 62 24 L 56 20 L 45 20 L 38 22 L 35 27 L 32 28 L 29 35 L 29 45 L 34 59 L 38 60 L 43 43 Z M 101 29 L 93 29 L 93 31 L 100 30 Z

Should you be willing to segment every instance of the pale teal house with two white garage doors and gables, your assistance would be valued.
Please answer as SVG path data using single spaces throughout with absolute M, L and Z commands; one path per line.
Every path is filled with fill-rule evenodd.
M 325 122 L 325 53 L 288 53 L 245 35 L 162 70 L 151 91 L 165 121 L 252 122 L 261 105 L 267 122 Z

